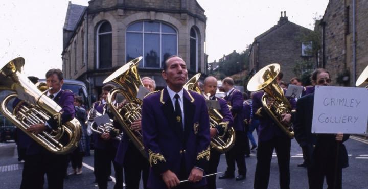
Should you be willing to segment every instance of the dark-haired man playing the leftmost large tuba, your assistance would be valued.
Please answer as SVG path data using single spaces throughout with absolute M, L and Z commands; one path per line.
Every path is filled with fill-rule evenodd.
M 46 83 L 52 87 L 47 96 L 53 99 L 62 108 L 61 123 L 71 121 L 74 118 L 74 94 L 70 90 L 62 90 L 63 74 L 60 69 L 50 69 L 46 73 Z M 54 117 L 47 122 L 34 124 L 27 129 L 28 132 L 38 134 L 42 131 L 57 129 L 59 125 Z M 20 188 L 43 188 L 43 177 L 46 173 L 49 188 L 63 188 L 66 171 L 66 155 L 53 154 L 41 147 L 36 141 L 26 151 L 22 182 Z

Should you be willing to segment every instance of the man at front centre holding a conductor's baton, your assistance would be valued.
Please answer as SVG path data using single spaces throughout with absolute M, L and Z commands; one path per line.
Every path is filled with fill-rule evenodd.
M 169 57 L 162 76 L 167 86 L 142 104 L 143 142 L 151 166 L 148 188 L 205 188 L 202 176 L 210 159 L 206 102 L 183 89 L 188 71 L 182 58 Z

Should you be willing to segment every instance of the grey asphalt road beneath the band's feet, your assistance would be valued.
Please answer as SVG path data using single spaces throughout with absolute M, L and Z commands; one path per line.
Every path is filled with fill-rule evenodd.
M 350 166 L 343 169 L 342 188 L 368 188 L 368 140 L 351 136 L 345 142 L 349 154 Z M 217 180 L 218 188 L 252 188 L 256 167 L 255 151 L 249 158 L 246 158 L 247 175 L 243 181 L 235 179 Z M 81 175 L 71 175 L 65 179 L 64 188 L 97 188 L 94 183 L 93 155 L 83 158 L 83 173 Z M 303 162 L 301 148 L 295 140 L 291 144 L 290 188 L 308 188 L 307 170 L 297 167 Z M 16 145 L 13 142 L 0 143 L 0 188 L 19 188 L 21 181 L 23 163 L 18 163 Z M 71 167 L 68 168 L 71 171 Z M 218 171 L 225 171 L 225 156 L 221 156 Z M 113 173 L 112 173 L 113 176 Z M 112 177 L 113 178 L 113 177 Z M 45 183 L 46 185 L 47 183 Z M 109 188 L 113 188 L 114 182 L 109 182 Z M 327 185 L 325 185 L 325 188 Z M 45 188 L 47 188 L 45 186 Z M 142 188 L 142 186 L 141 186 Z M 279 188 L 279 172 L 277 158 L 272 158 L 269 188 Z

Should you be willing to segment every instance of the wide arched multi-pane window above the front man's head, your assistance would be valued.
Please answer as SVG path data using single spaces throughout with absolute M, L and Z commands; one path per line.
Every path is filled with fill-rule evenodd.
M 126 61 L 143 56 L 139 67 L 162 68 L 166 59 L 177 54 L 177 32 L 162 22 L 140 21 L 127 28 Z

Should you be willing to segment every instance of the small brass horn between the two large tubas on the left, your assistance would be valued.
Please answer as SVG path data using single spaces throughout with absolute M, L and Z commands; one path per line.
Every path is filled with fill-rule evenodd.
M 87 115 L 87 122 L 91 122 L 90 127 L 91 130 L 98 134 L 110 134 L 110 136 L 115 140 L 121 140 L 123 137 L 123 132 L 118 128 L 113 126 L 113 120 L 109 119 L 107 123 L 97 124 L 94 119 L 96 117 L 102 116 L 103 114 L 99 113 L 95 107 L 91 108 Z

